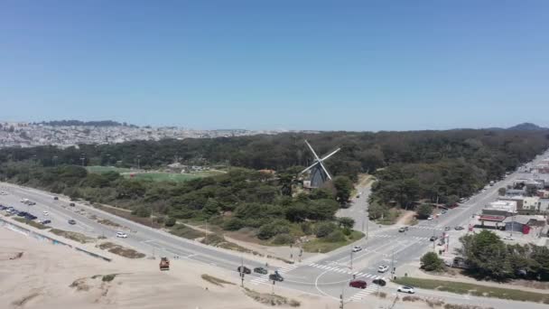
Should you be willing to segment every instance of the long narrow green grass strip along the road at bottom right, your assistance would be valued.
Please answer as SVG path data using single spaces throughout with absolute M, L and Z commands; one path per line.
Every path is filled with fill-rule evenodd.
M 545 304 L 549 303 L 549 294 L 521 291 L 502 287 L 480 286 L 455 281 L 420 279 L 409 276 L 396 278 L 394 282 L 396 284 L 404 286 L 415 286 L 419 288 L 451 292 L 461 295 L 494 297 L 523 302 L 535 302 Z

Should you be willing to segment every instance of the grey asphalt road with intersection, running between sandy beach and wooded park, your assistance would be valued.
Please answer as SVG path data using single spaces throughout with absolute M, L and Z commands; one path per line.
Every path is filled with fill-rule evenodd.
M 535 159 L 535 163 L 546 157 L 547 154 Z M 127 244 L 131 247 L 146 253 L 149 256 L 177 256 L 191 260 L 215 265 L 224 269 L 234 271 L 237 279 L 237 267 L 244 262 L 247 267 L 265 267 L 265 262 L 270 263 L 270 271 L 277 269 L 284 276 L 284 282 L 277 283 L 277 286 L 299 290 L 314 295 L 326 295 L 336 299 L 343 295 L 347 302 L 365 302 L 366 296 L 378 290 L 384 292 L 395 292 L 395 286 L 377 286 L 372 281 L 378 277 L 390 276 L 392 267 L 396 268 L 396 276 L 403 276 L 399 273 L 399 267 L 410 262 L 417 261 L 424 252 L 433 249 L 431 236 L 440 236 L 445 227 L 451 227 L 448 231 L 451 241 L 457 241 L 462 231 L 453 229 L 455 226 L 467 228 L 472 214 L 478 213 L 489 201 L 497 199 L 498 188 L 512 183 L 521 175 L 512 173 L 507 178 L 494 186 L 489 187 L 485 192 L 470 198 L 461 204 L 460 207 L 448 211 L 434 220 L 424 220 L 419 224 L 409 227 L 405 232 L 399 232 L 399 227 L 379 227 L 373 222 L 366 224 L 370 231 L 368 239 L 361 239 L 357 243 L 346 248 L 340 248 L 329 254 L 317 255 L 303 260 L 297 264 L 281 265 L 273 261 L 266 261 L 264 257 L 243 255 L 235 251 L 220 248 L 212 248 L 199 242 L 181 239 L 158 229 L 150 229 L 130 220 L 119 218 L 105 211 L 99 211 L 87 204 L 76 202 L 75 207 L 70 207 L 70 201 L 64 197 L 59 200 L 53 199 L 53 194 L 39 190 L 24 188 L 13 184 L 2 183 L 3 191 L 8 195 L 0 195 L 0 203 L 14 206 L 20 211 L 29 211 L 45 219 L 43 211 L 48 211 L 47 219 L 52 220 L 51 225 L 55 228 L 79 231 L 91 236 L 104 235 L 110 240 Z M 27 206 L 20 200 L 27 198 L 35 201 L 36 205 Z M 367 209 L 368 191 L 365 188 L 350 211 L 358 211 L 353 217 L 366 218 L 361 211 Z M 76 225 L 68 224 L 68 220 L 77 221 Z M 121 227 L 115 228 L 98 223 L 98 219 L 108 219 L 116 222 Z M 366 223 L 366 222 L 365 222 Z M 356 229 L 362 228 L 359 221 Z M 116 231 L 126 231 L 127 239 L 116 239 Z M 361 246 L 363 249 L 351 253 L 350 247 Z M 275 267 L 275 265 L 277 265 Z M 378 273 L 379 266 L 388 266 L 389 270 Z M 368 282 L 364 290 L 349 287 L 349 280 L 352 278 L 363 279 Z M 247 284 L 250 285 L 271 285 L 266 275 L 252 274 L 247 276 Z M 438 295 L 432 291 L 419 291 L 419 295 Z M 455 297 L 455 295 L 442 295 L 444 297 Z M 469 299 L 474 300 L 475 297 Z M 462 300 L 462 299 L 461 299 Z M 524 307 L 530 304 L 523 304 Z M 535 308 L 535 304 L 532 304 Z

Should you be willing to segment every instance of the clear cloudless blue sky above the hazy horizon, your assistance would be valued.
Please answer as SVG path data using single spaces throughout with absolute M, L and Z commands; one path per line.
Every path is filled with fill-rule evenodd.
M 0 118 L 549 126 L 549 1 L 0 2 Z

